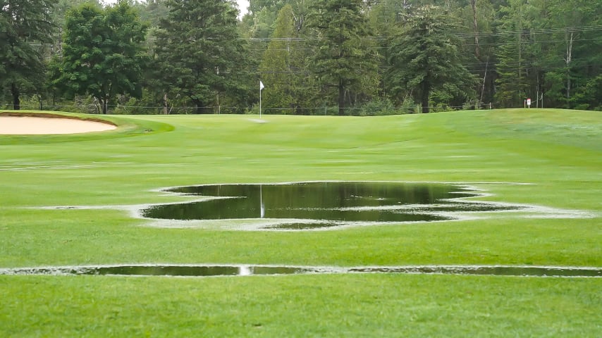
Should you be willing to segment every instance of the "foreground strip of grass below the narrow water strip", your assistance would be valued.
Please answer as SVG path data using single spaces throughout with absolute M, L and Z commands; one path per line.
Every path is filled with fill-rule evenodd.
M 0 283 L 4 337 L 597 337 L 599 313 L 584 309 L 602 301 L 599 284 L 563 278 L 0 276 Z

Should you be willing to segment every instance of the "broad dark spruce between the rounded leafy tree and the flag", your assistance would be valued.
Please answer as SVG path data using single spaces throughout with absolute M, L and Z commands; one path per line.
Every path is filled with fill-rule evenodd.
M 219 93 L 242 97 L 250 89 L 237 14 L 228 0 L 172 0 L 155 32 L 164 90 L 188 97 L 197 113 L 213 112 Z

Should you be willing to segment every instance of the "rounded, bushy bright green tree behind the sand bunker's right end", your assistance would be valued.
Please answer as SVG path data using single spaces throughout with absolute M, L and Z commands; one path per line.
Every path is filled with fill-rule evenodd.
M 117 94 L 142 96 L 146 29 L 127 1 L 106 9 L 83 4 L 68 12 L 52 84 L 68 97 L 94 96 L 102 113 Z

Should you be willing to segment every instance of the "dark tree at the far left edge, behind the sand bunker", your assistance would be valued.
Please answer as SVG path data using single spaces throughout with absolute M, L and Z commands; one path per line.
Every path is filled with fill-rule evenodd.
M 51 43 L 53 2 L 0 0 L 0 86 L 16 110 L 23 90 L 38 92 L 44 84 L 42 44 Z

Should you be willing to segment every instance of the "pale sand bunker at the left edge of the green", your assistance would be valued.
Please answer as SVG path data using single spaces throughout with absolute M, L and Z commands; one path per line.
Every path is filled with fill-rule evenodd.
M 73 118 L 0 116 L 0 134 L 5 135 L 77 134 L 114 129 L 116 126 L 109 123 Z

